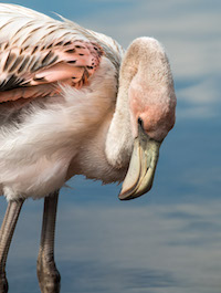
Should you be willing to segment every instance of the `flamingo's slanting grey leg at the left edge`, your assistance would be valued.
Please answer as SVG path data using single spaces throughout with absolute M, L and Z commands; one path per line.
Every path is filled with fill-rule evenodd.
M 19 214 L 24 200 L 9 201 L 6 216 L 0 230 L 0 293 L 8 292 L 8 281 L 6 276 L 6 263 L 11 244 L 11 239 L 19 219 Z

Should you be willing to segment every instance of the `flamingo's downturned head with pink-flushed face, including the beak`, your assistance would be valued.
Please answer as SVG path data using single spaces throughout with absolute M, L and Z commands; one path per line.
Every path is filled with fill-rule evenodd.
M 137 39 L 127 59 L 137 55 L 128 86 L 134 149 L 119 199 L 137 198 L 151 189 L 159 148 L 175 124 L 176 95 L 168 59 L 151 38 Z M 133 57 L 134 60 L 134 57 Z

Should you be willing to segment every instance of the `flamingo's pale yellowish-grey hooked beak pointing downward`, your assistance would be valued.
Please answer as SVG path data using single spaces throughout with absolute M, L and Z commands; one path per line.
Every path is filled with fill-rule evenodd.
M 160 145 L 138 125 L 138 137 L 135 138 L 129 168 L 118 196 L 120 200 L 140 197 L 151 189 Z

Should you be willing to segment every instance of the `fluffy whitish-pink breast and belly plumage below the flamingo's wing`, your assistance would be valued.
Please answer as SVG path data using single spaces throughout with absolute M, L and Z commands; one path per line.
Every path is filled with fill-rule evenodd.
M 65 86 L 63 96 L 48 98 L 44 108 L 41 101 L 23 108 L 20 113 L 22 123 L 1 127 L 0 182 L 8 200 L 46 196 L 74 174 L 96 178 L 92 167 L 97 164 L 96 158 L 91 154 L 87 160 L 88 154 L 93 153 L 90 146 L 99 146 L 103 142 L 98 135 L 99 124 L 114 111 L 116 98 L 114 66 L 107 59 L 102 63 L 88 87 L 77 91 Z M 82 149 L 88 150 L 84 159 L 81 158 Z M 73 158 L 74 169 L 67 172 Z M 110 178 L 104 176 L 103 169 L 113 169 L 105 154 L 99 161 L 104 168 L 97 179 L 118 180 L 113 175 Z

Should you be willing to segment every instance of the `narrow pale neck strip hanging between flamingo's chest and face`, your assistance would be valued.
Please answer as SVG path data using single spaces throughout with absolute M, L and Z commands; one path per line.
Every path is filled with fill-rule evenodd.
M 135 55 L 131 59 L 131 46 L 129 46 L 123 57 L 116 108 L 106 138 L 107 160 L 117 168 L 128 164 L 133 149 L 128 90 L 137 72 L 137 62 Z

